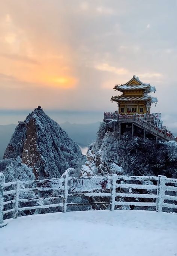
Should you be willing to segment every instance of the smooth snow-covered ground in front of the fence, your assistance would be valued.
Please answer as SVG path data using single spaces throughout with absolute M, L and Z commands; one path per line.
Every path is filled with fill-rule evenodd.
M 153 211 L 50 213 L 9 220 L 0 256 L 177 255 L 177 214 Z

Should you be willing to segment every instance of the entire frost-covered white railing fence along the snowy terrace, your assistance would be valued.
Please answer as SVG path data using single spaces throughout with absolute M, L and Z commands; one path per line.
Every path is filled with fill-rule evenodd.
M 43 194 L 46 192 L 49 192 L 49 195 Z M 82 200 L 76 200 L 79 197 Z M 83 197 L 87 200 L 83 200 Z M 54 202 L 50 203 L 52 200 Z M 21 207 L 21 204 L 25 206 Z M 31 206 L 31 204 L 35 205 Z M 33 214 L 31 212 L 33 210 L 55 207 L 56 212 L 65 213 L 71 206 L 98 204 L 106 205 L 106 209 L 109 208 L 111 211 L 126 207 L 131 207 L 132 210 L 134 207 L 136 209 L 148 207 L 157 212 L 162 211 L 164 207 L 167 211 L 172 211 L 177 209 L 177 179 L 162 175 L 158 177 L 116 174 L 95 177 L 64 175 L 61 178 L 48 180 L 16 180 L 4 183 L 4 175 L 0 174 L 0 226 L 3 226 L 3 220 L 9 213 L 12 213 L 13 218 L 16 219 L 22 211 L 30 211 L 28 214 Z M 4 210 L 4 208 L 8 209 Z

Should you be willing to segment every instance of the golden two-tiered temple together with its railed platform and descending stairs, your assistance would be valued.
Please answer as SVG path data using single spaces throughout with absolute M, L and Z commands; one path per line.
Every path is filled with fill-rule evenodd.
M 121 135 L 131 132 L 134 136 L 141 138 L 158 139 L 162 141 L 176 140 L 173 134 L 162 126 L 161 114 L 150 113 L 152 103 L 157 103 L 156 97 L 148 95 L 156 91 L 154 86 L 145 84 L 137 76 L 133 76 L 126 84 L 115 85 L 115 91 L 120 91 L 120 96 L 112 96 L 111 101 L 118 103 L 115 112 L 104 112 L 104 122 L 107 130 Z

